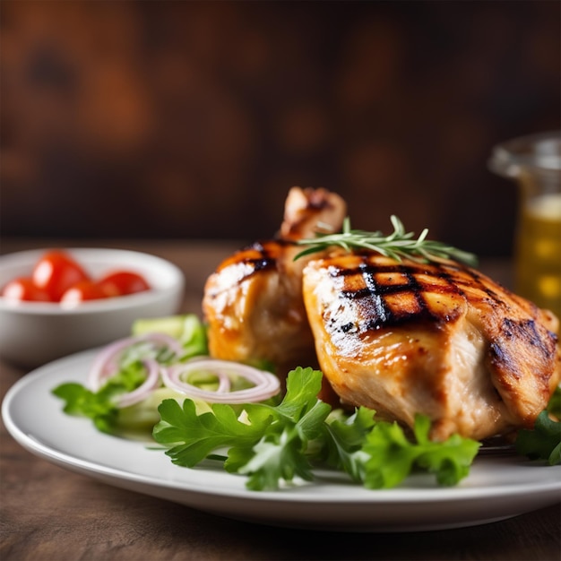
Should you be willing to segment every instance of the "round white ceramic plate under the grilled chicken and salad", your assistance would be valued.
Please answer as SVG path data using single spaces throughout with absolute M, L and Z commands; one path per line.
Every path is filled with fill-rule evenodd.
M 83 383 L 96 351 L 62 358 L 24 376 L 6 394 L 4 423 L 31 453 L 66 469 L 196 509 L 286 527 L 332 531 L 422 531 L 495 522 L 561 499 L 561 467 L 514 454 L 476 459 L 470 476 L 439 488 L 419 474 L 400 488 L 371 491 L 325 471 L 312 484 L 278 492 L 245 488 L 246 479 L 210 465 L 194 470 L 161 450 L 107 436 L 90 420 L 65 415 L 51 394 L 58 384 Z

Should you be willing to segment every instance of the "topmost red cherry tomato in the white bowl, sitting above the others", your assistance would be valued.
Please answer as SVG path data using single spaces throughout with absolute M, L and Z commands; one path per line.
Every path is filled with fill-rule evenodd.
M 54 302 L 59 302 L 65 291 L 77 282 L 90 280 L 82 266 L 62 251 L 49 251 L 43 255 L 35 265 L 31 278 L 39 289 L 47 291 Z

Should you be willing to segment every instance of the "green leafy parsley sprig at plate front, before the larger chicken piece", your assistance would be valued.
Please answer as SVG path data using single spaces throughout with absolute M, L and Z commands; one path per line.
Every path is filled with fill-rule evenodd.
M 227 404 L 197 414 L 189 399 L 183 407 L 163 401 L 154 439 L 173 463 L 219 460 L 229 472 L 246 475 L 252 490 L 275 490 L 295 477 L 312 480 L 317 467 L 343 470 L 367 488 L 395 487 L 413 470 L 434 473 L 441 485 L 468 475 L 478 442 L 457 435 L 432 442 L 430 421 L 420 415 L 410 440 L 396 423 L 376 420 L 374 410 L 332 411 L 316 397 L 321 381 L 320 371 L 298 367 L 279 405 L 248 403 L 243 418 Z

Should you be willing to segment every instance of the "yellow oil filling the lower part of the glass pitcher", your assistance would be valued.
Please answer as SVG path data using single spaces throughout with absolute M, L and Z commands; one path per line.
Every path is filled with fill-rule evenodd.
M 515 291 L 561 319 L 561 193 L 523 203 Z

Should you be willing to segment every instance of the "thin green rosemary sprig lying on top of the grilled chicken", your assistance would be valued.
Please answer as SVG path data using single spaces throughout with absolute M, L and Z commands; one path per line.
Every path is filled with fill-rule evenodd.
M 396 261 L 408 258 L 418 263 L 439 261 L 442 259 L 453 259 L 461 263 L 475 266 L 477 257 L 453 246 L 447 246 L 442 242 L 427 239 L 428 229 L 424 229 L 420 236 L 414 238 L 413 232 L 406 232 L 403 224 L 397 216 L 392 215 L 393 233 L 384 236 L 381 231 L 367 232 L 364 230 L 351 229 L 350 218 L 343 220 L 342 232 L 337 234 L 325 234 L 318 232 L 314 238 L 299 239 L 299 246 L 308 246 L 301 251 L 294 260 L 304 255 L 324 251 L 332 246 L 339 246 L 348 252 L 354 249 L 369 249 Z

